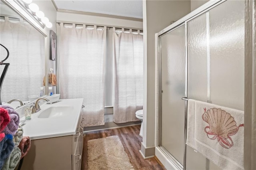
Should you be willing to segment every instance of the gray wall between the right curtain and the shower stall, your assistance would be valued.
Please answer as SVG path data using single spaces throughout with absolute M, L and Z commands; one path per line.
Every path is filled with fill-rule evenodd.
M 155 34 L 190 13 L 190 0 L 143 1 L 144 98 L 143 144 L 154 147 L 155 139 Z M 145 149 L 142 148 L 142 153 Z M 145 153 L 143 153 L 145 156 Z

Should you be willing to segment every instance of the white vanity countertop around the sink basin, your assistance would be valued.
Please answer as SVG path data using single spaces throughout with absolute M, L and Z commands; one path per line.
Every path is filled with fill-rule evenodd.
M 31 115 L 31 120 L 26 120 L 23 128 L 23 136 L 29 136 L 31 140 L 68 136 L 76 134 L 76 127 L 84 99 L 61 99 L 56 103 L 43 104 L 41 110 Z M 40 113 L 50 107 L 72 107 L 70 114 L 61 117 L 38 118 Z M 25 120 L 21 117 L 20 121 Z

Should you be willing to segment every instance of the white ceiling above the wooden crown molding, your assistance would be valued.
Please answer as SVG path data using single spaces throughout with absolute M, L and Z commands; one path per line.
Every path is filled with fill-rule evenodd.
M 142 0 L 54 0 L 58 9 L 142 19 Z

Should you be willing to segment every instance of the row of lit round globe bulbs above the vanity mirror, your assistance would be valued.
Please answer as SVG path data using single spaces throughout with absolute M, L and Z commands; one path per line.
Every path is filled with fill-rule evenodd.
M 52 23 L 49 22 L 49 19 L 44 16 L 44 12 L 39 10 L 39 7 L 35 3 L 31 3 L 32 0 L 22 0 L 24 2 L 24 6 L 28 9 L 30 9 L 30 13 L 38 20 L 38 22 L 41 22 L 42 27 L 46 26 L 47 28 L 52 28 Z

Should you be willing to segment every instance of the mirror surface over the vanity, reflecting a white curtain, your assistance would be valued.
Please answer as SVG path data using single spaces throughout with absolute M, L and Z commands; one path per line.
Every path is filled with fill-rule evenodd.
M 31 95 L 40 97 L 45 75 L 45 37 L 2 1 L 0 43 L 10 52 L 4 61 L 10 66 L 2 82 L 2 103 L 12 99 L 29 101 Z M 0 61 L 5 57 L 6 49 L 1 46 Z M 0 65 L 1 75 L 3 70 L 4 66 Z

